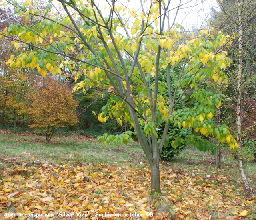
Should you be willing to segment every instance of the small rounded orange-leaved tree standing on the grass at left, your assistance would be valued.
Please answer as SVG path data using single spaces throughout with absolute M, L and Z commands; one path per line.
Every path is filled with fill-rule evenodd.
M 52 77 L 38 77 L 32 84 L 33 90 L 26 94 L 24 109 L 30 114 L 30 127 L 45 135 L 48 143 L 57 128 L 77 123 L 74 110 L 76 102 L 67 86 Z

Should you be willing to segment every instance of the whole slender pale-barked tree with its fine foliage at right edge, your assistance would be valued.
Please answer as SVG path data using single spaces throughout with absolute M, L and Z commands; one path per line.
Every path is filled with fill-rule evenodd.
M 217 18 L 225 19 L 221 27 L 232 36 L 230 53 L 233 55 L 234 66 L 229 68 L 228 75 L 232 79 L 231 88 L 235 91 L 231 96 L 236 102 L 236 141 L 238 143 L 238 164 L 242 180 L 246 191 L 253 195 L 250 182 L 248 181 L 246 171 L 242 161 L 242 128 L 243 120 L 248 118 L 247 111 L 254 106 L 255 99 L 255 42 L 254 37 L 256 25 L 256 1 L 237 0 L 237 1 L 218 1 L 221 14 L 216 13 Z M 234 6 L 234 4 L 236 4 Z M 224 17 L 224 19 L 223 19 Z M 252 84 L 254 81 L 254 84 Z M 248 88 L 246 88 L 248 86 Z M 248 102 L 248 104 L 246 103 Z M 245 110 L 247 109 L 247 110 Z M 250 127 L 252 124 L 248 124 Z M 245 130 L 245 129 L 244 129 Z

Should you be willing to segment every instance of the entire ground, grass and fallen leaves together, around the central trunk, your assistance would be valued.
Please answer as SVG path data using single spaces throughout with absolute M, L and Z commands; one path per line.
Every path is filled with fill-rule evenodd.
M 150 192 L 150 167 L 138 143 L 106 148 L 73 135 L 46 144 L 36 134 L 2 130 L 0 219 L 256 220 L 256 200 L 246 195 L 237 162 L 228 150 L 222 156 L 221 169 L 211 153 L 192 147 L 162 161 L 160 195 Z M 255 188 L 256 164 L 246 169 Z M 28 217 L 43 213 L 54 217 Z

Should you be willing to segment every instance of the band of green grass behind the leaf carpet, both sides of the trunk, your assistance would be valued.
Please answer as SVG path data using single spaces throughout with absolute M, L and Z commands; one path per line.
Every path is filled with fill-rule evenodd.
M 69 161 L 76 161 L 77 163 L 92 163 L 95 166 L 103 163 L 120 167 L 126 162 L 137 168 L 148 166 L 146 156 L 138 143 L 121 146 L 109 144 L 106 148 L 102 143 L 98 143 L 96 138 L 77 135 L 54 137 L 46 144 L 44 137 L 36 134 L 20 135 L 6 132 L 0 134 L 0 152 L 2 156 L 18 156 L 28 162 L 49 161 L 64 165 Z M 187 147 L 172 161 L 162 161 L 161 167 L 162 169 L 180 169 L 182 172 L 194 175 L 204 173 L 205 176 L 217 172 L 227 176 L 228 181 L 235 186 L 242 183 L 237 161 L 228 150 L 222 149 L 221 169 L 216 169 L 215 163 L 216 159 L 212 153 L 204 153 Z M 252 187 L 256 188 L 256 163 L 247 162 L 245 165 Z M 0 164 L 0 167 L 3 166 L 4 164 Z

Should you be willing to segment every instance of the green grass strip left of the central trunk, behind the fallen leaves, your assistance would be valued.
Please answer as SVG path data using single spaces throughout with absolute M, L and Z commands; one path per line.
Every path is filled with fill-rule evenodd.
M 55 137 L 46 144 L 44 137 L 29 134 L 1 134 L 0 151 L 2 155 L 19 156 L 28 161 L 49 161 L 64 164 L 68 161 L 80 163 L 117 163 L 124 160 L 131 165 L 146 161 L 146 157 L 138 143 L 106 148 L 96 138 L 84 136 Z

